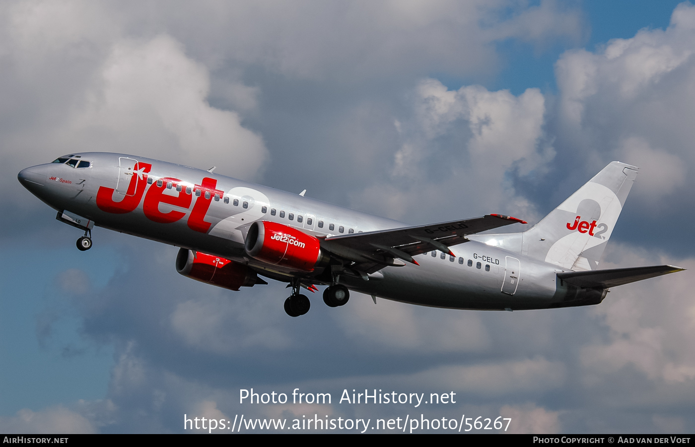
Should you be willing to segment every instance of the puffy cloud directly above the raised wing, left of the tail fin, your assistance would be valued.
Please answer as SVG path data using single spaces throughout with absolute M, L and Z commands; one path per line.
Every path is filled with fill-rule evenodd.
M 372 209 L 382 203 L 395 219 L 444 209 L 451 219 L 521 212 L 528 220 L 534 210 L 516 196 L 507 175 L 543 172 L 553 159 L 543 132 L 545 112 L 537 89 L 520 96 L 479 85 L 452 91 L 426 79 L 414 92 L 411 119 L 396 121 L 402 144 L 390 181 L 369 185 L 352 197 L 353 204 Z M 467 214 L 453 214 L 452 206 Z

